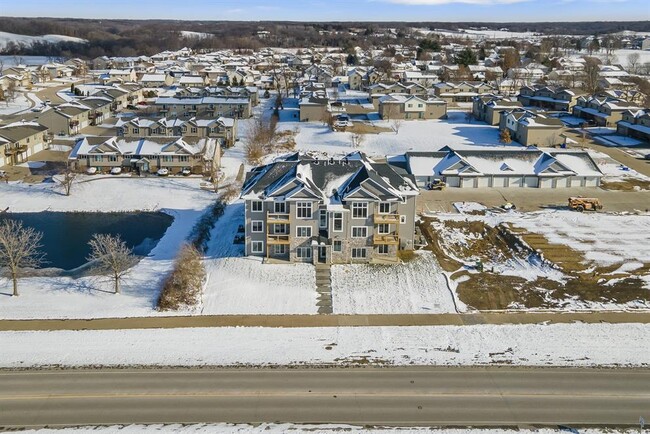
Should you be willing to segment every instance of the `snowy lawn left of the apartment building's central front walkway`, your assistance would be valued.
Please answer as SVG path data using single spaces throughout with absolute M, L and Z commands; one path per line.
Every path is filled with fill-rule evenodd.
M 261 258 L 244 257 L 243 244 L 233 244 L 243 222 L 244 205 L 236 202 L 212 231 L 201 313 L 315 314 L 313 265 L 263 264 Z

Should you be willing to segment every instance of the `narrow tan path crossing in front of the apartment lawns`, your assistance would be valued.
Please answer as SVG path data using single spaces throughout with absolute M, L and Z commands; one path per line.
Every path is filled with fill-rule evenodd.
M 205 315 L 141 318 L 0 320 L 0 332 L 189 327 L 381 327 L 538 323 L 650 324 L 650 312 L 445 313 L 404 315 Z

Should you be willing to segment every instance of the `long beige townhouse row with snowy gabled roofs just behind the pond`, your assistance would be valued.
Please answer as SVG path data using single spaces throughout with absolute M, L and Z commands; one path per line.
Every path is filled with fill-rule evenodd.
M 124 172 L 156 173 L 168 169 L 170 174 L 191 171 L 209 172 L 221 164 L 219 140 L 181 137 L 101 137 L 79 139 L 68 157 L 70 167 L 85 171 L 91 167 L 109 172 L 119 167 Z

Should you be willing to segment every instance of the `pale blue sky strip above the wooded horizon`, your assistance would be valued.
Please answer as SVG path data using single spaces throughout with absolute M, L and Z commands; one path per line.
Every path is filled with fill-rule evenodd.
M 0 16 L 236 21 L 635 21 L 650 20 L 650 0 L 0 0 Z

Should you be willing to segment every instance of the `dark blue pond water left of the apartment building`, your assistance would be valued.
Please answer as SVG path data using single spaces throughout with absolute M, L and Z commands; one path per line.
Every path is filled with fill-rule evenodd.
M 72 270 L 84 265 L 93 234 L 120 235 L 137 255 L 147 255 L 158 244 L 174 218 L 162 212 L 97 213 L 38 212 L 1 214 L 0 220 L 21 220 L 43 233 L 43 267 Z

